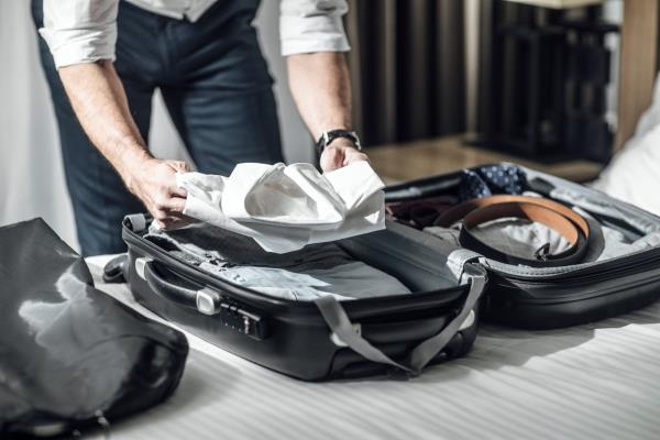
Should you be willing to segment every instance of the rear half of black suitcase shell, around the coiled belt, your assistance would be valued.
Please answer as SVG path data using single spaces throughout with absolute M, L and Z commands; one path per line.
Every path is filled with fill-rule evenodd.
M 660 231 L 660 218 L 601 191 L 513 164 L 495 166 L 514 167 L 525 180 L 522 190 L 578 207 L 601 227 L 615 228 L 631 240 Z M 480 169 L 483 172 L 484 167 L 470 172 Z M 386 189 L 386 202 L 457 195 L 465 185 L 464 176 L 462 170 L 391 186 Z M 446 253 L 454 252 L 430 234 L 428 244 L 444 248 Z M 488 286 L 482 317 L 501 324 L 528 329 L 568 327 L 624 314 L 660 296 L 658 245 L 610 260 L 547 268 L 503 264 L 460 250 L 457 254 L 460 262 L 479 263 L 486 268 Z

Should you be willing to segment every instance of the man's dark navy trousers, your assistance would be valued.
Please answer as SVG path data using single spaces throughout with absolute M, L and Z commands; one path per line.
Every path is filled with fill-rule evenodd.
M 42 1 L 32 1 L 37 29 Z M 146 142 L 152 96 L 160 88 L 200 172 L 228 175 L 241 162 L 283 161 L 273 80 L 251 25 L 257 8 L 258 0 L 223 0 L 190 23 L 120 2 L 114 67 Z M 41 37 L 40 53 L 82 254 L 123 252 L 121 220 L 144 207 L 90 144 Z

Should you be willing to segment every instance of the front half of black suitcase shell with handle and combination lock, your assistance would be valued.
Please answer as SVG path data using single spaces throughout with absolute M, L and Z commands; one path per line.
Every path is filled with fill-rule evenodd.
M 209 275 L 144 239 L 147 218 L 128 216 L 128 280 L 135 299 L 168 321 L 239 356 L 307 381 L 415 375 L 464 355 L 479 321 L 485 271 L 446 266 L 427 234 L 391 223 L 338 242 L 414 293 L 316 302 L 266 296 Z

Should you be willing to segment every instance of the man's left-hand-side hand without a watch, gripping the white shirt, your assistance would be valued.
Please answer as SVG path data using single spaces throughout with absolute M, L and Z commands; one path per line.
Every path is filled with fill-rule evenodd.
M 174 229 L 190 222 L 183 215 L 187 194 L 176 186 L 176 173 L 187 170 L 185 162 L 150 157 L 128 170 L 124 180 L 161 228 Z

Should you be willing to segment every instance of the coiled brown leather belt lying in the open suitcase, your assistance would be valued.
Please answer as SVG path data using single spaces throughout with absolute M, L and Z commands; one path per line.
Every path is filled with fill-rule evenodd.
M 559 232 L 571 246 L 563 252 L 549 254 L 549 245 L 544 245 L 536 252 L 536 260 L 522 258 L 497 250 L 472 233 L 480 224 L 505 218 L 542 223 Z M 463 226 L 459 242 L 462 246 L 503 263 L 534 267 L 565 266 L 582 262 L 591 237 L 588 222 L 584 217 L 565 205 L 541 197 L 503 195 L 473 199 L 444 211 L 435 224 L 449 228 L 461 220 Z

